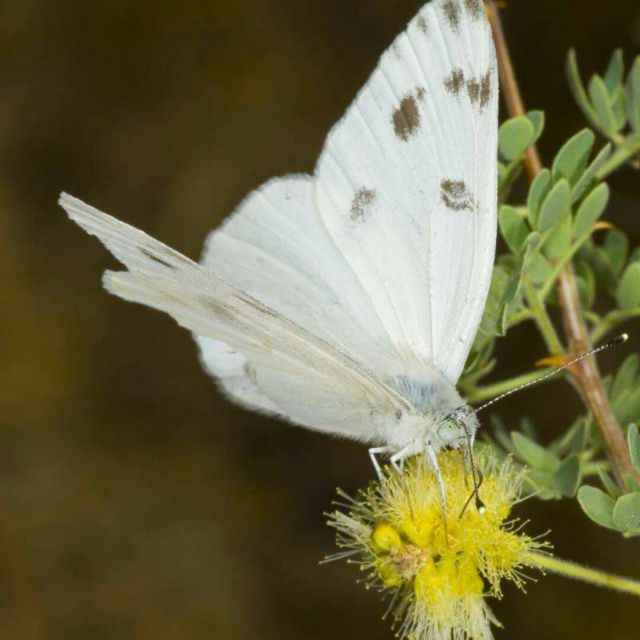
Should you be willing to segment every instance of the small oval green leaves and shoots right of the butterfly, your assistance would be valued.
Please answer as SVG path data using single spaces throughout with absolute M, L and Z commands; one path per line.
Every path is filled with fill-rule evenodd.
M 585 87 L 572 51 L 567 72 L 591 128 L 567 139 L 523 201 L 511 197 L 512 187 L 524 177 L 528 149 L 543 134 L 544 114 L 531 111 L 500 127 L 498 222 L 504 252 L 496 259 L 480 330 L 460 382 L 472 402 L 537 377 L 534 371 L 485 382 L 494 370 L 497 340 L 515 325 L 533 322 L 550 355 L 566 351 L 553 311 L 565 266 L 573 266 L 594 343 L 640 317 L 640 248 L 630 250 L 626 234 L 606 222 L 610 189 L 605 182 L 613 171 L 640 164 L 640 58 L 625 71 L 622 52 L 614 52 L 604 74 L 593 75 Z M 604 144 L 596 142 L 596 133 Z M 640 357 L 629 355 L 603 383 L 640 473 Z M 517 430 L 507 429 L 495 415 L 491 422 L 492 429 L 484 434 L 488 446 L 528 469 L 528 491 L 546 500 L 576 497 L 598 525 L 628 537 L 640 535 L 640 484 L 631 477 L 621 479 L 612 468 L 593 416 L 578 416 L 559 428 L 551 442 L 541 442 L 526 417 Z

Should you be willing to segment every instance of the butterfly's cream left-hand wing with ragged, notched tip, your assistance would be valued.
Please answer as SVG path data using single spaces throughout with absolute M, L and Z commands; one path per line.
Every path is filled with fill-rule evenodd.
M 128 268 L 105 273 L 111 293 L 164 311 L 195 334 L 228 345 L 218 366 L 236 399 L 364 441 L 372 439 L 372 412 L 393 415 L 406 408 L 360 362 L 212 271 L 76 198 L 63 194 L 60 204 Z M 232 361 L 233 354 L 246 362 Z M 230 378 L 240 369 L 244 377 L 234 385 Z

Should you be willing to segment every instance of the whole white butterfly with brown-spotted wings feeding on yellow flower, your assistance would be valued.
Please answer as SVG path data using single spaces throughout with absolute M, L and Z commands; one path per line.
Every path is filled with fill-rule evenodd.
M 329 133 L 313 176 L 266 183 L 202 264 L 62 194 L 128 271 L 121 298 L 195 334 L 229 397 L 377 445 L 392 460 L 469 445 L 456 390 L 496 241 L 496 59 L 481 0 L 434 0 Z M 375 463 L 375 456 L 372 455 Z

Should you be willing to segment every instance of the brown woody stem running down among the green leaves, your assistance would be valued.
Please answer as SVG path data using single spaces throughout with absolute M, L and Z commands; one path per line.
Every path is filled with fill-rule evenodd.
M 502 82 L 502 91 L 512 117 L 525 115 L 525 108 L 518 88 L 511 57 L 507 47 L 500 15 L 494 0 L 487 1 L 488 15 L 493 30 Z M 542 170 L 542 161 L 537 148 L 531 146 L 524 158 L 524 165 L 529 180 L 533 180 Z M 558 297 L 565 333 L 573 353 L 583 353 L 591 347 L 589 333 L 584 320 L 584 313 L 578 296 L 578 285 L 571 263 L 567 264 L 558 278 Z M 629 457 L 627 443 L 618 421 L 616 420 L 609 398 L 602 384 L 595 358 L 585 358 L 571 368 L 571 373 L 580 389 L 582 398 L 593 414 L 605 450 L 612 462 L 616 482 L 625 487 L 625 477 L 632 476 L 640 481 Z

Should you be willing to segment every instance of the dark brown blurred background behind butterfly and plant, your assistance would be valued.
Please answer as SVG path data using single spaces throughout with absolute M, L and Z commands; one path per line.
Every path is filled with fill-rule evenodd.
M 267 178 L 310 171 L 416 0 L 6 0 L 0 4 L 0 636 L 391 638 L 332 551 L 336 485 L 365 449 L 230 405 L 167 317 L 109 297 L 114 262 L 56 205 L 67 190 L 192 257 Z M 546 158 L 583 126 L 563 74 L 640 49 L 637 0 L 504 12 Z M 608 218 L 640 240 L 640 176 Z M 640 329 L 640 327 L 637 327 Z M 632 328 L 633 329 L 633 328 Z M 640 336 L 640 333 L 636 333 Z M 638 349 L 636 337 L 627 352 Z M 503 374 L 543 355 L 523 328 Z M 609 354 L 605 370 L 624 353 Z M 561 381 L 502 408 L 544 437 L 579 410 Z M 523 505 L 559 555 L 640 575 L 638 543 L 575 504 Z M 495 603 L 499 638 L 638 637 L 638 603 L 554 577 Z

